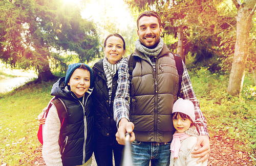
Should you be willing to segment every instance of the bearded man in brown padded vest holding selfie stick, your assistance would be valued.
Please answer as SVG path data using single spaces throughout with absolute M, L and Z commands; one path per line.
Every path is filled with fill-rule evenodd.
M 172 107 L 177 100 L 179 75 L 173 54 L 160 38 L 163 32 L 160 16 L 154 11 L 143 12 L 137 19 L 137 27 L 139 39 L 131 56 L 138 60 L 131 85 L 127 58 L 118 70 L 114 100 L 116 139 L 124 145 L 125 133 L 131 133 L 134 165 L 148 165 L 150 161 L 151 165 L 169 165 L 170 142 L 175 132 Z M 195 106 L 195 124 L 200 136 L 193 157 L 201 157 L 199 163 L 208 158 L 209 134 L 184 63 L 183 70 L 179 97 L 192 101 Z

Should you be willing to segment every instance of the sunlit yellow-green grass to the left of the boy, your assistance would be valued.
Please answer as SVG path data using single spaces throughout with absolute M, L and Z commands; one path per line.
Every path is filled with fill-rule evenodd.
M 27 84 L 0 95 L 0 164 L 33 165 L 37 140 L 37 115 L 51 99 L 53 82 Z

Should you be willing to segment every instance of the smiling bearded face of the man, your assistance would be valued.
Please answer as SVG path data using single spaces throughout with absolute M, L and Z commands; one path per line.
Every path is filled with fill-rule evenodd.
M 138 23 L 137 35 L 140 42 L 147 48 L 155 48 L 162 34 L 163 28 L 159 25 L 158 20 L 154 16 L 143 16 Z

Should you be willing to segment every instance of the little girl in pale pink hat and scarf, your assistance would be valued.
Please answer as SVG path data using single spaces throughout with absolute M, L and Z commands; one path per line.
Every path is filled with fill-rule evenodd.
M 197 163 L 198 158 L 192 158 L 199 133 L 194 124 L 196 116 L 194 104 L 190 100 L 179 98 L 173 105 L 173 125 L 176 129 L 173 141 L 170 144 L 170 166 L 207 165 L 205 162 Z

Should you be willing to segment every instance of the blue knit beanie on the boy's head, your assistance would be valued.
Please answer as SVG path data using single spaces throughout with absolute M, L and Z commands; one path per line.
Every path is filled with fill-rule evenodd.
M 68 83 L 69 83 L 69 80 L 70 80 L 70 77 L 71 75 L 73 74 L 73 72 L 79 68 L 83 63 L 75 63 L 75 64 L 71 64 L 69 65 L 69 68 L 67 70 L 67 74 L 66 74 L 66 77 L 65 77 L 65 85 L 68 86 Z M 88 71 L 90 72 L 90 88 L 93 87 L 93 71 L 92 69 L 86 65 L 86 64 L 83 64 L 84 66 L 86 66 L 86 68 L 88 69 Z

